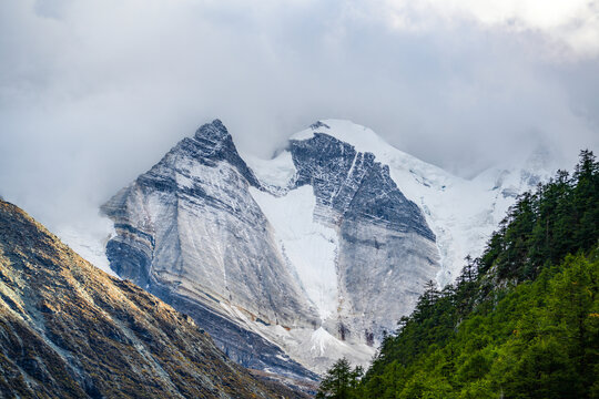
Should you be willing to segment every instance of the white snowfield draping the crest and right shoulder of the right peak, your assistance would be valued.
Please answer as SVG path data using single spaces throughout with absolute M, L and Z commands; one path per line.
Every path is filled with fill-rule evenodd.
M 436 279 L 440 286 L 453 280 L 468 254 L 480 255 L 518 194 L 548 180 L 554 172 L 548 150 L 539 147 L 522 162 L 497 165 L 465 180 L 393 147 L 372 130 L 349 121 L 328 120 L 315 125 L 292 140 L 323 131 L 389 166 L 394 182 L 420 207 L 436 235 L 440 256 Z

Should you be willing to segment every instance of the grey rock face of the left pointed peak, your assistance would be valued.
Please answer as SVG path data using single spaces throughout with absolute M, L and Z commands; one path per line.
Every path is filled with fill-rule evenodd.
M 102 207 L 118 233 L 106 254 L 121 277 L 190 314 L 242 365 L 312 376 L 236 320 L 316 324 L 251 185 L 260 183 L 226 129 L 204 125 Z

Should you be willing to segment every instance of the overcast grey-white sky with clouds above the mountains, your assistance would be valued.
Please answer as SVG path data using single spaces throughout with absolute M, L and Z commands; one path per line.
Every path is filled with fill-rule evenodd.
M 50 226 L 220 117 L 348 119 L 463 176 L 599 146 L 599 1 L 2 0 L 0 195 Z

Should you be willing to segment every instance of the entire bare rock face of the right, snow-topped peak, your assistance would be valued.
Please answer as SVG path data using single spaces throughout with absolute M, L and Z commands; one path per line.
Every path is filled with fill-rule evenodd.
M 372 153 L 325 133 L 291 142 L 296 185 L 309 184 L 315 217 L 337 229 L 338 315 L 326 320 L 343 340 L 378 340 L 414 308 L 438 272 L 435 234 Z M 335 326 L 336 324 L 336 326 Z

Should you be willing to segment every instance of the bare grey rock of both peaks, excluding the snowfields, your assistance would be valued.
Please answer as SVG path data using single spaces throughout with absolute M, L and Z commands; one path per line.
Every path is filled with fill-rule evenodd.
M 326 124 L 312 129 L 313 137 L 290 142 L 296 173 L 285 187 L 263 184 L 214 121 L 102 207 L 116 231 L 106 255 L 121 277 L 192 316 L 235 361 L 307 378 L 285 352 L 322 369 L 362 345 L 367 361 L 368 345 L 439 269 L 435 234 L 389 167 L 327 135 Z M 309 217 L 338 237 L 336 311 L 326 317 L 250 191 L 276 200 L 306 185 L 316 202 Z

